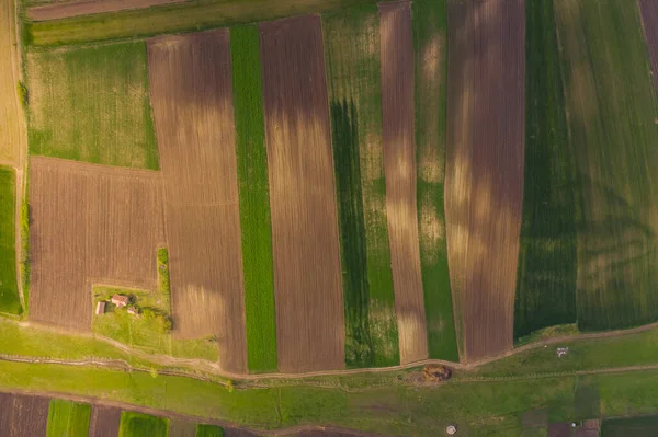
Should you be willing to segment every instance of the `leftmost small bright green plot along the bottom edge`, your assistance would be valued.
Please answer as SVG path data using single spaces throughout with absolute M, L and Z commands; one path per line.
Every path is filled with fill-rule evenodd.
M 77 402 L 50 400 L 47 437 L 87 437 L 91 405 Z

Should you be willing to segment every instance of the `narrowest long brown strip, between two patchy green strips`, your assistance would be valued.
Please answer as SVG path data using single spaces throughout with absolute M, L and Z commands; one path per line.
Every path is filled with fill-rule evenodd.
M 386 210 L 400 361 L 428 357 L 416 210 L 413 46 L 408 2 L 379 3 Z

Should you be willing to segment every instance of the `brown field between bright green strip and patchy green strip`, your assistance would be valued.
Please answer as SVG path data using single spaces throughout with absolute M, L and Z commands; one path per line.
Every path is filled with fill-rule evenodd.
M 260 30 L 279 368 L 340 369 L 343 303 L 320 18 Z

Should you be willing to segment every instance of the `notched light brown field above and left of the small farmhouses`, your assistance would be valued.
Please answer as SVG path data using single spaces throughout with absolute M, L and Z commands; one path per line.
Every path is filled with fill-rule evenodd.
M 91 329 L 91 286 L 155 288 L 163 243 L 156 172 L 33 157 L 30 318 Z

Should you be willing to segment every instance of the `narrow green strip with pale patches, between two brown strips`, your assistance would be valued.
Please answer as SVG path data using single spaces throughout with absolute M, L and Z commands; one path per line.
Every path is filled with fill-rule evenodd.
M 430 358 L 458 361 L 447 269 L 443 179 L 447 88 L 445 1 L 411 3 L 420 268 Z

